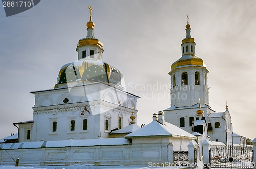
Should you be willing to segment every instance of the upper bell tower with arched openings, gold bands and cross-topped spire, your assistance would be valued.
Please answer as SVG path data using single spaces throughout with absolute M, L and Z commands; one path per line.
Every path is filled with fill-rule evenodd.
M 190 35 L 190 24 L 186 25 L 186 37 L 181 42 L 182 57 L 171 66 L 170 102 L 172 106 L 183 107 L 198 103 L 209 104 L 207 74 L 208 69 L 201 58 L 196 57 L 195 39 Z

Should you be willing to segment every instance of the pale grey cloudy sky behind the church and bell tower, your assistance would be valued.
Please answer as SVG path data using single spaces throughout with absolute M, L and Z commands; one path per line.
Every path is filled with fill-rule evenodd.
M 227 101 L 233 131 L 256 136 L 256 1 L 42 0 L 10 17 L 0 7 L 0 138 L 17 132 L 13 122 L 33 119 L 29 92 L 52 89 L 60 67 L 77 60 L 90 5 L 103 61 L 122 72 L 129 92 L 146 96 L 138 100 L 138 125 L 170 106 L 164 87 L 181 57 L 188 14 L 196 55 L 210 71 L 210 106 L 224 111 Z M 148 84 L 164 89 L 143 90 Z

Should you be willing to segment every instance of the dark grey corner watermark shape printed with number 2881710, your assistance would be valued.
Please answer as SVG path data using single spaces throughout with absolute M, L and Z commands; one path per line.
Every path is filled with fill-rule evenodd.
M 2 0 L 6 16 L 16 15 L 36 6 L 41 0 Z

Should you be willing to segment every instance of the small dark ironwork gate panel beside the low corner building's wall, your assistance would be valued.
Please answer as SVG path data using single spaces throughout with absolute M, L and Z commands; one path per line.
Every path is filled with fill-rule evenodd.
M 188 165 L 188 151 L 174 151 L 175 166 Z

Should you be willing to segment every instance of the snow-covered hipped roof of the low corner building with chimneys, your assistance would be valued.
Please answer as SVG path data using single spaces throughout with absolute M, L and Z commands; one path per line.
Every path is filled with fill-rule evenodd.
M 168 137 L 186 137 L 186 138 L 196 138 L 196 136 L 182 130 L 181 128 L 170 124 L 165 123 L 162 125 L 157 121 L 153 121 L 150 124 L 125 135 L 125 138 L 130 137 L 148 137 L 148 136 L 168 136 Z

